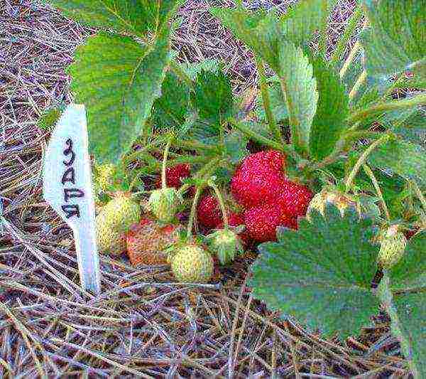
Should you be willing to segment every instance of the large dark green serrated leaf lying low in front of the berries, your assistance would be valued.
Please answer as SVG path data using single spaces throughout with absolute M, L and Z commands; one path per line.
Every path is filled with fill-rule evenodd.
M 300 220 L 299 229 L 278 230 L 278 242 L 260 245 L 249 282 L 270 309 L 294 316 L 326 336 L 358 333 L 378 309 L 370 291 L 378 247 L 372 221 L 350 209 L 344 217 L 328 205 L 325 218 Z

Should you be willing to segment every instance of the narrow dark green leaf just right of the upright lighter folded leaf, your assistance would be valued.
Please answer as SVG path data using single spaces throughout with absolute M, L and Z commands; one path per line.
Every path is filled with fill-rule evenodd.
M 312 61 L 317 79 L 319 99 L 310 134 L 310 155 L 318 161 L 334 150 L 342 133 L 348 128 L 349 97 L 335 70 L 322 58 Z

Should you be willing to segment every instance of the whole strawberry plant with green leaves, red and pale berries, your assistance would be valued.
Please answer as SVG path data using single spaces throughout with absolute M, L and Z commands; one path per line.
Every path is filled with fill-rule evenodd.
M 212 8 L 255 55 L 253 112 L 222 63 L 178 61 L 182 1 L 46 2 L 99 28 L 69 73 L 95 169 L 114 167 L 100 209 L 124 191 L 155 230 L 187 217 L 168 248 L 182 281 L 209 280 L 211 255 L 231 264 L 257 248 L 255 297 L 326 335 L 357 333 L 382 306 L 413 375 L 426 375 L 424 1 L 359 1 L 331 55 L 335 0 L 284 15 Z M 403 88 L 416 90 L 395 96 Z

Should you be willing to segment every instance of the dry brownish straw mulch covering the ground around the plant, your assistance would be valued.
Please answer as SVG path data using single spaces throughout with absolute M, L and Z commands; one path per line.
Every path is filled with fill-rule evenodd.
M 180 58 L 223 58 L 236 92 L 253 87 L 251 53 L 207 14 L 209 3 L 180 11 Z M 339 1 L 330 46 L 354 3 Z M 408 377 L 383 316 L 346 341 L 280 321 L 246 287 L 255 254 L 199 287 L 173 283 L 168 267 L 102 256 L 102 295 L 82 292 L 72 233 L 42 198 L 49 135 L 35 120 L 72 101 L 64 69 L 91 33 L 34 1 L 0 0 L 0 378 Z

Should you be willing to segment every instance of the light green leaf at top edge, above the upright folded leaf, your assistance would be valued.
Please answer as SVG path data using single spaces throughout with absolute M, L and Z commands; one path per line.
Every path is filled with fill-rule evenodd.
M 315 31 L 320 30 L 327 21 L 329 10 L 335 0 L 310 0 L 300 1 L 280 18 L 283 38 L 304 45 L 312 37 Z M 327 13 L 324 9 L 327 6 Z

